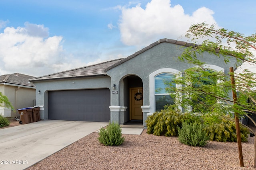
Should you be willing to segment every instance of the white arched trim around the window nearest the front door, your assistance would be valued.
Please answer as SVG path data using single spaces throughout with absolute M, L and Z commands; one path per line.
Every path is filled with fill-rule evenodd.
M 154 77 L 158 74 L 162 74 L 162 73 L 171 73 L 171 74 L 177 74 L 178 76 L 182 76 L 181 72 L 179 70 L 173 69 L 173 68 L 161 68 L 159 70 L 156 70 L 154 72 L 152 72 L 151 74 L 149 74 L 149 102 L 150 102 L 150 109 L 149 112 L 150 113 L 154 113 L 155 112 L 155 79 Z M 177 78 L 177 77 L 176 77 Z M 179 88 L 180 85 L 176 84 L 176 88 Z

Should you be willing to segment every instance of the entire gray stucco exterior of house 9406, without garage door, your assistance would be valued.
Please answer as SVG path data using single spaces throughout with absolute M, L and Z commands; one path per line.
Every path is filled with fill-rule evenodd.
M 66 77 L 65 79 L 55 76 L 54 80 L 47 80 L 47 76 L 42 76 L 38 79 L 32 79 L 31 81 L 36 85 L 36 92 L 39 90 L 41 92 L 40 94 L 36 93 L 36 105 L 41 106 L 41 118 L 48 118 L 47 92 L 50 90 L 108 88 L 112 92 L 110 97 L 110 121 L 124 124 L 131 120 L 129 105 L 133 96 L 131 96 L 130 89 L 138 87 L 143 88 L 142 122 L 146 126 L 145 121 L 148 114 L 155 111 L 154 76 L 160 73 L 176 74 L 195 66 L 178 59 L 184 45 L 187 44 L 170 39 L 160 39 L 141 51 L 108 66 L 104 69 L 105 74 L 102 74 L 102 76 Z M 238 64 L 232 57 L 229 63 L 225 63 L 223 57 L 216 57 L 209 53 L 198 56 L 198 59 L 205 62 L 210 68 L 218 71 L 222 70 L 225 73 L 229 72 L 231 66 L 236 69 Z M 76 71 L 78 72 L 78 70 Z M 52 77 L 50 76 L 50 78 Z M 113 89 L 114 85 L 115 89 Z

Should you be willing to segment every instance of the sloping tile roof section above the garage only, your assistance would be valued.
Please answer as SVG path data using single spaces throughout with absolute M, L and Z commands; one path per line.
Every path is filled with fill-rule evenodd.
M 76 68 L 72 70 L 66 70 L 63 72 L 57 72 L 54 74 L 49 74 L 46 76 L 40 76 L 32 78 L 29 81 L 42 81 L 42 80 L 54 80 L 54 79 L 63 79 L 63 78 L 78 78 L 78 77 L 88 77 L 88 76 L 104 76 L 106 72 L 104 71 L 109 66 L 119 62 L 122 59 L 116 59 L 111 61 L 106 61 L 99 64 L 94 64 L 90 66 L 84 66 L 81 68 Z

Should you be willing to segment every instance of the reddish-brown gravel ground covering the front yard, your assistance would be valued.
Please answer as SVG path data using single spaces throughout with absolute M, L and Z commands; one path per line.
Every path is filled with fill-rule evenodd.
M 256 170 L 254 137 L 242 143 L 240 167 L 237 143 L 210 141 L 205 147 L 190 147 L 177 137 L 148 135 L 146 130 L 123 136 L 123 145 L 110 147 L 98 142 L 98 133 L 91 133 L 26 170 Z

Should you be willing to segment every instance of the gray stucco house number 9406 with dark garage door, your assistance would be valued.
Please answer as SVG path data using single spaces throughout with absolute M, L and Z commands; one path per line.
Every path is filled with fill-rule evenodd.
M 124 124 L 140 120 L 146 126 L 148 114 L 163 108 L 169 95 L 163 80 L 193 67 L 178 56 L 183 41 L 160 39 L 124 59 L 116 59 L 64 72 L 33 78 L 36 104 L 42 119 L 104 121 Z M 209 53 L 199 57 L 209 68 L 229 72 L 236 60 L 225 63 Z M 40 94 L 38 94 L 40 93 Z M 169 102 L 173 102 L 169 99 Z

